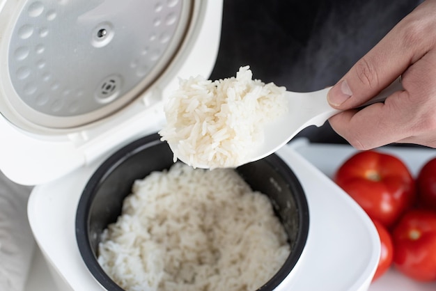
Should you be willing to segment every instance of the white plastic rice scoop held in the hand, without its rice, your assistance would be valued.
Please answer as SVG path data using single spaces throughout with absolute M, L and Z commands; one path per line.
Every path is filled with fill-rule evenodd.
M 254 152 L 247 156 L 247 159 L 242 164 L 257 161 L 271 155 L 279 150 L 282 146 L 290 141 L 302 129 L 310 125 L 320 127 L 328 118 L 341 112 L 332 108 L 327 102 L 327 92 L 330 88 L 325 88 L 320 91 L 309 93 L 295 93 L 286 91 L 288 97 L 288 111 L 276 120 L 265 125 L 265 139 L 263 143 Z M 369 100 L 361 107 L 383 102 L 386 98 L 396 91 L 402 91 L 403 86 L 400 83 L 400 78 L 396 79 L 384 91 L 380 92 L 373 99 Z M 171 150 L 174 151 L 176 145 L 169 143 Z M 188 162 L 185 157 L 178 157 L 182 162 Z M 210 168 L 207 164 L 195 165 L 198 168 Z M 240 166 L 240 165 L 235 165 Z

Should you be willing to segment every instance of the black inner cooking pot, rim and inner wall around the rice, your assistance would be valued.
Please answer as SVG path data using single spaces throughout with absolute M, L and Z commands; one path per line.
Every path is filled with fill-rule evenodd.
M 79 200 L 76 238 L 81 257 L 95 279 L 107 290 L 123 290 L 98 264 L 102 232 L 121 214 L 132 184 L 152 171 L 173 165 L 173 152 L 158 134 L 143 137 L 121 148 L 95 171 Z M 277 155 L 236 168 L 254 191 L 266 194 L 286 230 L 291 252 L 279 271 L 258 290 L 274 290 L 302 255 L 309 232 L 309 207 L 299 180 Z

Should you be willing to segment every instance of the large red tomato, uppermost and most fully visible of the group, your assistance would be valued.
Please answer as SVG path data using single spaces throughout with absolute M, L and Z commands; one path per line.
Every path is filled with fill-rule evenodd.
M 373 220 L 389 228 L 414 203 L 414 179 L 393 155 L 357 152 L 338 168 L 334 181 Z

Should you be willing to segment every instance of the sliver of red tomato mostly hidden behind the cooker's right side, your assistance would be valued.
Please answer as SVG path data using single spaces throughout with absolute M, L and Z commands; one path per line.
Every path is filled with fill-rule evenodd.
M 380 260 L 378 261 L 377 269 L 373 277 L 373 281 L 380 278 L 392 265 L 394 259 L 394 246 L 392 244 L 391 234 L 379 221 L 373 221 L 377 228 L 378 236 L 380 237 L 381 252 Z

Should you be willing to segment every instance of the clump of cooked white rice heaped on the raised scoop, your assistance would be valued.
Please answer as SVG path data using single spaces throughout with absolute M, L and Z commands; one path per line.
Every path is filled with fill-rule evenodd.
M 166 125 L 159 132 L 178 157 L 194 167 L 245 164 L 263 143 L 263 127 L 286 112 L 285 87 L 253 80 L 249 66 L 236 77 L 210 81 L 180 79 L 165 104 Z

